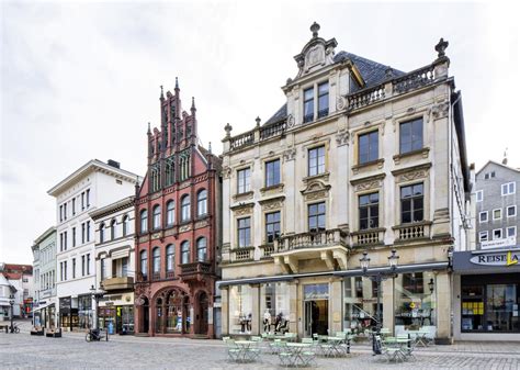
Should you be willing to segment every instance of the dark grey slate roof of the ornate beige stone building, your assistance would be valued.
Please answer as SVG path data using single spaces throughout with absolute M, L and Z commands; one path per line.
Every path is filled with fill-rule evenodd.
M 366 83 L 365 88 L 376 86 L 386 79 L 385 71 L 388 68 L 388 66 L 360 57 L 355 54 L 348 53 L 348 52 L 339 52 L 334 57 L 335 63 L 340 63 L 344 59 L 352 60 L 355 67 L 358 67 L 361 76 L 363 77 Z M 406 72 L 394 69 L 394 77 L 399 77 L 403 75 L 406 75 Z M 355 87 L 351 92 L 355 92 L 357 90 L 359 90 L 358 87 Z M 270 124 L 270 123 L 281 121 L 285 119 L 286 116 L 287 116 L 287 104 L 285 103 L 264 124 Z

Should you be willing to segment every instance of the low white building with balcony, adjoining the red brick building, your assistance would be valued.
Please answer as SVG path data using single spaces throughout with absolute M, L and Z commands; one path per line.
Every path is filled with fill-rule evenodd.
M 140 181 L 139 181 L 140 182 Z M 90 212 L 95 231 L 95 280 L 99 326 L 114 334 L 134 333 L 135 197 Z

